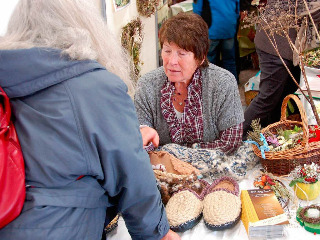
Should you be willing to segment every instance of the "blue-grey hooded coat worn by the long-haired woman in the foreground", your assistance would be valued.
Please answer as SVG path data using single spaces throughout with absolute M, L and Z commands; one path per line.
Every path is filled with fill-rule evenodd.
M 31 186 L 0 239 L 100 240 L 111 206 L 132 239 L 161 239 L 169 224 L 126 85 L 96 61 L 60 55 L 0 50 Z

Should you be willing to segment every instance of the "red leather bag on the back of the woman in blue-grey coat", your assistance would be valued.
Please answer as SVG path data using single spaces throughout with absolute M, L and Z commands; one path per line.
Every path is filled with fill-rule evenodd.
M 0 228 L 19 216 L 26 195 L 25 171 L 9 97 L 0 87 Z

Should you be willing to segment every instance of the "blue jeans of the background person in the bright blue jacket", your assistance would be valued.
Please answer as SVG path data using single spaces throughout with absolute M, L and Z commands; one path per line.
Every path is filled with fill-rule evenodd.
M 210 40 L 210 48 L 207 57 L 209 62 L 212 64 L 216 64 L 218 45 L 221 49 L 223 68 L 232 73 L 238 82 L 238 75 L 236 71 L 235 39 L 229 38 Z

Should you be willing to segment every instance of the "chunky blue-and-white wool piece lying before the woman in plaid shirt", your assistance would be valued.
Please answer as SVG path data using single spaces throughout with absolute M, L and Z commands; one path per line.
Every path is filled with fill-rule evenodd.
M 210 177 L 211 180 L 221 176 L 243 179 L 247 171 L 259 160 L 252 150 L 252 144 L 246 142 L 243 142 L 231 156 L 219 150 L 199 148 L 198 143 L 195 143 L 193 148 L 169 143 L 155 151 L 167 151 L 176 158 L 191 163 L 200 170 L 203 177 Z

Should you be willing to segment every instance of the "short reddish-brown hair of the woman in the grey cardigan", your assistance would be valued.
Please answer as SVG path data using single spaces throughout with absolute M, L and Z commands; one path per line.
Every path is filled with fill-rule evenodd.
M 200 69 L 208 67 L 207 53 L 209 51 L 208 25 L 196 13 L 186 14 L 184 12 L 166 20 L 159 31 L 161 48 L 165 41 L 169 44 L 174 42 L 180 48 L 193 52 L 195 58 L 204 62 Z

